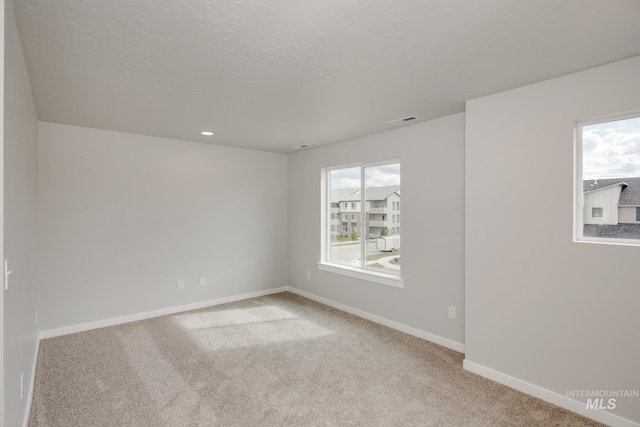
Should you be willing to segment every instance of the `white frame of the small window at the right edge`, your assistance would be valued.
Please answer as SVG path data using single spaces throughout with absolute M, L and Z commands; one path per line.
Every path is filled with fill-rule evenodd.
M 626 113 L 610 114 L 596 118 L 577 120 L 574 123 L 574 145 L 573 145 L 573 241 L 576 243 L 595 243 L 620 246 L 640 246 L 640 239 L 616 239 L 612 237 L 587 237 L 584 235 L 584 191 L 582 175 L 582 133 L 583 127 L 597 125 L 619 120 L 633 119 L 640 117 L 640 110 L 628 111 Z

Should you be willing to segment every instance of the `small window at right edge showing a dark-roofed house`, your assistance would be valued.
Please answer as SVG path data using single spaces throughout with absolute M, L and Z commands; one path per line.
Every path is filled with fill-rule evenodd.
M 575 237 L 640 244 L 640 112 L 577 125 Z

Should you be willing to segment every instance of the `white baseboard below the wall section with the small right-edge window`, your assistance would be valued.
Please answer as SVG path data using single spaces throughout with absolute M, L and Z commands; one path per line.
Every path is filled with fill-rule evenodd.
M 606 412 L 600 409 L 587 409 L 585 402 L 579 402 L 567 396 L 563 396 L 562 394 L 547 390 L 510 375 L 503 374 L 502 372 L 487 368 L 475 362 L 465 359 L 462 366 L 469 372 L 473 372 L 474 374 L 478 374 L 497 383 L 504 384 L 523 393 L 537 397 L 549 403 L 553 403 L 554 405 L 568 409 L 569 411 L 577 414 L 584 415 L 592 420 L 596 420 L 613 427 L 640 427 L 640 424 L 634 421 L 627 420 L 626 418 L 619 417 L 611 412 Z

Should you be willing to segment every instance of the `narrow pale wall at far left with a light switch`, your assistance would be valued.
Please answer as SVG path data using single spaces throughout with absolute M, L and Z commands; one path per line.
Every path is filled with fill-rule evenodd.
M 4 257 L 13 271 L 9 289 L 0 291 L 4 293 L 4 423 L 18 426 L 23 422 L 31 393 L 38 338 L 38 118 L 12 2 L 5 2 L 4 9 Z

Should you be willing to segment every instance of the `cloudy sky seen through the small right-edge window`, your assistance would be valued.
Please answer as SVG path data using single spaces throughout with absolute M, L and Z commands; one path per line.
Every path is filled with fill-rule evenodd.
M 582 179 L 640 177 L 640 117 L 582 128 Z

